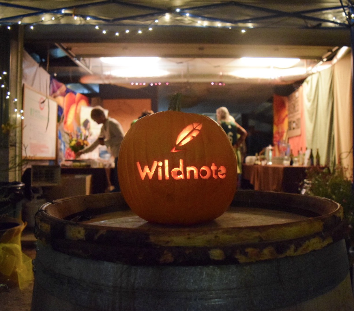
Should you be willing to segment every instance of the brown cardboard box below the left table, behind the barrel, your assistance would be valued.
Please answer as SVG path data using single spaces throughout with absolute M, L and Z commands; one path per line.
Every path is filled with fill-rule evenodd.
M 57 186 L 48 187 L 45 195 L 49 201 L 80 194 L 92 194 L 92 175 L 62 174 Z

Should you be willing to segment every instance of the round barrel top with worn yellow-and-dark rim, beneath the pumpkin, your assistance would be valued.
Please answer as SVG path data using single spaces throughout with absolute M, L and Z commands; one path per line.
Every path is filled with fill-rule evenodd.
M 35 236 L 73 256 L 132 265 L 218 265 L 298 256 L 341 240 L 343 209 L 315 196 L 238 190 L 214 221 L 171 226 L 144 221 L 120 193 L 47 202 Z

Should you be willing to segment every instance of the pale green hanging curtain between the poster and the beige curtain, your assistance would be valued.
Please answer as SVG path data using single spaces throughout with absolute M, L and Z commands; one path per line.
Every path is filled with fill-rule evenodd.
M 317 149 L 320 164 L 331 168 L 335 165 L 333 129 L 332 67 L 308 77 L 303 83 L 306 146 Z

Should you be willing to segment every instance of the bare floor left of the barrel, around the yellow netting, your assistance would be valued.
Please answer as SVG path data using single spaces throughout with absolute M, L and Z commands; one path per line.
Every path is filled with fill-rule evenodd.
M 21 245 L 24 254 L 34 259 L 36 256 L 35 237 L 33 230 L 25 228 L 21 235 Z M 2 311 L 30 311 L 32 301 L 33 282 L 20 290 L 18 287 L 10 287 L 0 291 Z

